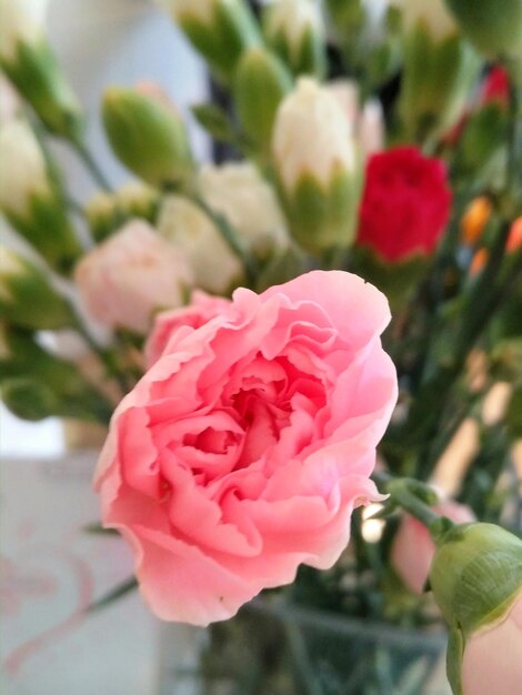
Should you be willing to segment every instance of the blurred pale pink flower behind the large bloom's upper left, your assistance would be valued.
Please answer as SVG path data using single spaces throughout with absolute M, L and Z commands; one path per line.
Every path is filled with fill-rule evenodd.
M 83 256 L 74 280 L 93 319 L 145 333 L 155 311 L 182 304 L 191 274 L 177 249 L 132 220 Z

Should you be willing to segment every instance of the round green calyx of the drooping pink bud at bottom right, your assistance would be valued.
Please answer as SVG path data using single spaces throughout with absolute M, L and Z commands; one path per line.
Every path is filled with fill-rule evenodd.
M 462 694 L 474 635 L 495 625 L 522 593 L 522 541 L 494 524 L 472 523 L 454 526 L 438 545 L 430 585 L 450 627 L 448 676 Z

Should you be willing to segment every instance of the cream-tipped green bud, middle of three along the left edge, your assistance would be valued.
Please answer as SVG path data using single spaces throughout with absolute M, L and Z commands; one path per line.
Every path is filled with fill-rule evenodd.
M 69 273 L 82 248 L 40 145 L 19 119 L 0 128 L 0 210 L 56 271 Z

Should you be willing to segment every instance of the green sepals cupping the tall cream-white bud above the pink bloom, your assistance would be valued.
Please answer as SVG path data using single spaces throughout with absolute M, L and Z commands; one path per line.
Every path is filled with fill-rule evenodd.
M 321 255 L 348 248 L 354 238 L 361 177 L 338 167 L 324 187 L 309 172 L 288 192 L 278 183 L 290 233 L 304 251 Z

